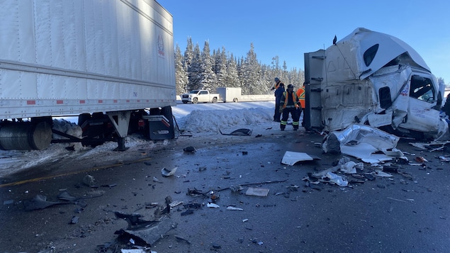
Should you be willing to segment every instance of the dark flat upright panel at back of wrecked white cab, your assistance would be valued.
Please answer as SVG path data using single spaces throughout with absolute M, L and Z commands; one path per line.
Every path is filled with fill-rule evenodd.
M 324 127 L 322 123 L 322 73 L 325 64 L 325 50 L 305 52 L 305 114 L 306 129 Z

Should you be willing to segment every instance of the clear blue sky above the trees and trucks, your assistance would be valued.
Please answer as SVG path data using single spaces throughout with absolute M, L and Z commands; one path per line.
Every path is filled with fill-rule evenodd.
M 436 77 L 450 84 L 450 1 L 157 0 L 174 16 L 174 43 L 186 50 L 188 37 L 200 49 L 225 47 L 257 59 L 278 55 L 288 69 L 304 69 L 303 53 L 332 44 L 355 28 L 388 33 L 413 47 Z

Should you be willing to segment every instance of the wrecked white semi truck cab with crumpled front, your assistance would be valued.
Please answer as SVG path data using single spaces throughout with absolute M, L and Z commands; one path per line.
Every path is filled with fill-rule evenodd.
M 305 53 L 306 128 L 342 130 L 354 123 L 399 136 L 438 139 L 444 86 L 412 47 L 365 28 L 326 50 Z

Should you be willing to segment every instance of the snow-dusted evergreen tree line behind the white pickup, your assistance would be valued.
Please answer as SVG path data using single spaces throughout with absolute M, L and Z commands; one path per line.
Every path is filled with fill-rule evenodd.
M 235 57 L 225 47 L 210 52 L 208 41 L 200 50 L 198 43 L 193 45 L 191 38 L 187 40 L 184 53 L 178 44 L 175 47 L 178 95 L 194 89 L 208 89 L 214 93 L 218 87 L 240 87 L 243 95 L 271 94 L 275 77 L 285 84 L 299 86 L 305 81 L 305 72 L 288 69 L 285 61 L 281 65 L 278 56 L 272 58 L 271 65 L 262 64 L 257 59 L 253 43 L 245 57 Z

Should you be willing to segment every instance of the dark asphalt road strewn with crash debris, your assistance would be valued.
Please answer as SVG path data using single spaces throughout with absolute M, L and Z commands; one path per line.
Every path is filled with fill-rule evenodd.
M 155 252 L 449 252 L 450 167 L 436 158 L 448 152 L 421 151 L 400 141 L 398 148 L 409 152 L 411 161 L 420 156 L 428 162 L 398 164 L 403 175 L 312 189 L 303 181 L 308 172 L 328 169 L 342 158 L 322 154 L 315 144 L 321 141 L 317 133 L 281 132 L 274 123 L 272 129 L 255 128 L 252 136 L 179 136 L 157 148 L 144 142 L 134 150 L 108 153 L 111 159 L 101 164 L 95 157 L 81 162 L 69 157 L 58 166 L 43 164 L 6 176 L 0 185 L 0 252 L 130 249 L 129 234 L 115 234 L 128 227 L 116 211 L 140 214 L 142 223 L 161 218 L 151 226 L 164 231 L 151 245 Z M 188 146 L 196 152 L 184 152 Z M 281 164 L 286 151 L 320 160 L 288 166 Z M 163 177 L 163 167 L 177 167 L 174 176 Z M 359 174 L 374 169 L 380 168 L 366 164 Z M 84 184 L 88 174 L 95 179 L 93 187 Z M 232 191 L 235 186 L 242 190 Z M 249 187 L 269 193 L 249 196 Z M 219 208 L 206 206 L 211 191 Z M 62 192 L 76 200 L 62 201 Z M 38 194 L 63 203 L 26 210 Z M 158 208 L 150 204 L 164 206 L 167 196 L 191 205 L 155 214 Z M 150 238 L 148 228 L 144 233 Z M 135 244 L 143 246 L 138 238 Z

